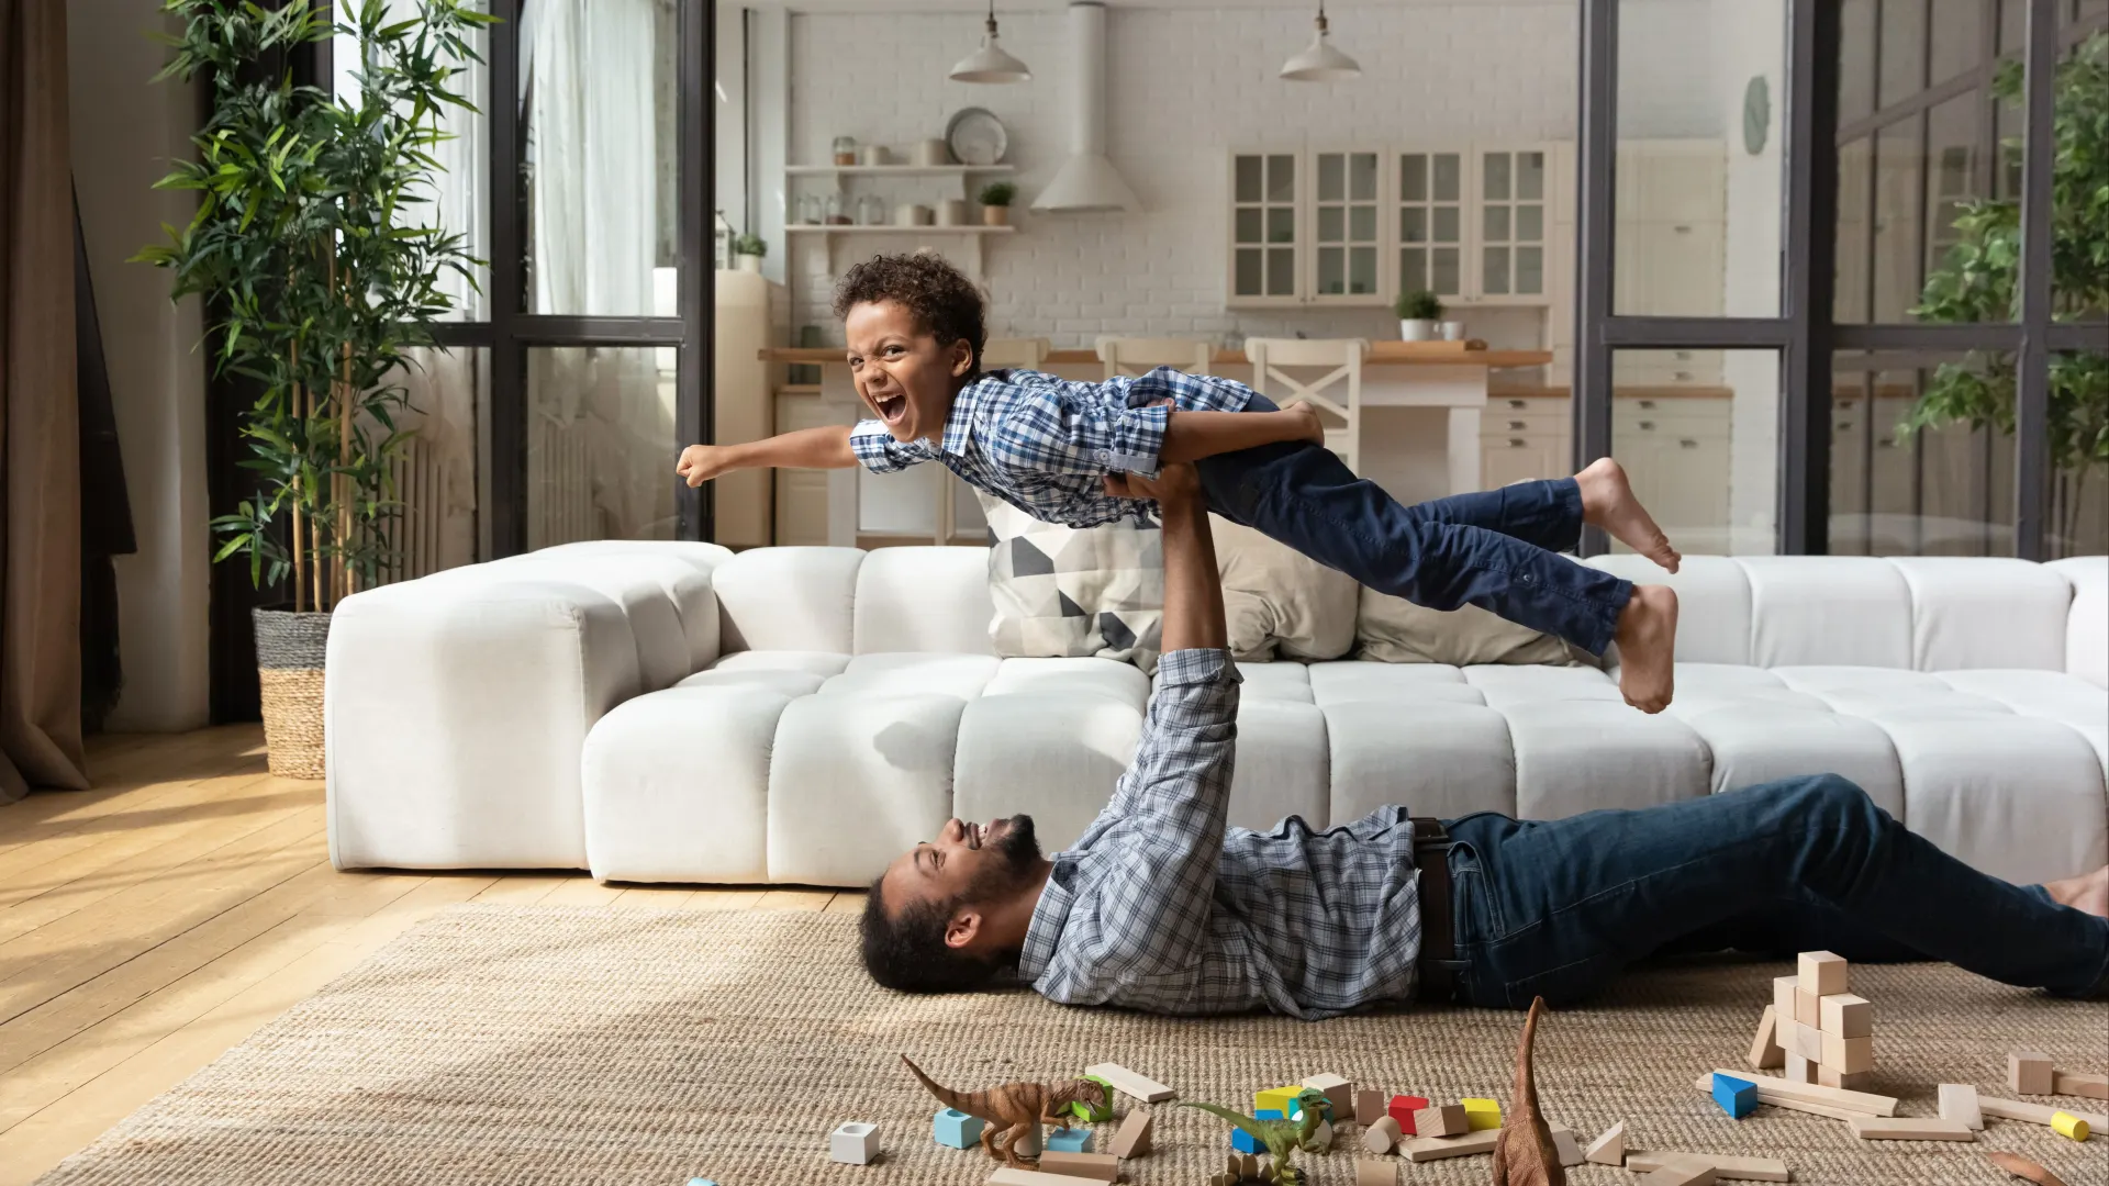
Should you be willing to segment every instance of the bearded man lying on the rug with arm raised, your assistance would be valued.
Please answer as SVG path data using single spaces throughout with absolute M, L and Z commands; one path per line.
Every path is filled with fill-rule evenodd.
M 1645 810 L 1225 827 L 1238 667 L 1192 466 L 1126 483 L 1164 519 L 1164 658 L 1135 764 L 1076 846 L 1031 817 L 949 821 L 871 882 L 871 977 L 953 992 L 1004 971 L 1063 1005 L 1154 1013 L 1573 1000 L 1658 952 L 1940 958 L 2067 996 L 2109 988 L 2109 867 L 1985 876 L 1835 774 Z

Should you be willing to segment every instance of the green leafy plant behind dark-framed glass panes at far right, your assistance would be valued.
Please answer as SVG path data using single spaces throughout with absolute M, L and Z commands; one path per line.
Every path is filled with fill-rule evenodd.
M 1993 93 L 2018 101 L 2023 70 L 2008 61 Z M 2109 36 L 2079 42 L 2054 82 L 2050 162 L 2052 317 L 2098 319 L 2109 312 Z M 2020 141 L 2006 141 L 2008 162 L 2020 162 Z M 1940 266 L 1926 276 L 1921 321 L 2020 319 L 2020 203 L 1959 203 L 1959 234 Z M 1900 437 L 1942 424 L 2014 433 L 2014 355 L 1972 350 L 1942 363 L 1898 426 Z M 2098 350 L 2050 357 L 2050 462 L 2069 481 L 2065 521 L 2073 540 L 2086 509 L 2088 479 L 2109 466 L 2109 355 Z M 2096 498 L 2101 498 L 2096 494 Z

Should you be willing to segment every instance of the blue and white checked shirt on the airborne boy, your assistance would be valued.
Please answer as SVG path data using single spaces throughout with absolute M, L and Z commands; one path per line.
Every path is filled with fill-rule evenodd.
M 1147 502 L 1109 498 L 1109 473 L 1158 473 L 1168 407 L 1244 412 L 1253 388 L 1215 376 L 1158 367 L 1145 376 L 1071 382 L 1040 371 L 989 371 L 966 384 L 945 418 L 945 439 L 896 441 L 879 420 L 850 431 L 856 460 L 871 473 L 917 462 L 945 468 L 1033 519 L 1097 528 L 1133 519 Z

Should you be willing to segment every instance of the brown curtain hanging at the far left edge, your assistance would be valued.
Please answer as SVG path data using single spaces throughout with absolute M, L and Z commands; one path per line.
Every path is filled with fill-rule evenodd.
M 86 787 L 65 0 L 0 0 L 0 802 Z

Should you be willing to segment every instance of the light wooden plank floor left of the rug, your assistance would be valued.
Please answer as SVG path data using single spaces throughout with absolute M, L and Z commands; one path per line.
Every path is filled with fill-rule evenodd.
M 0 1186 L 458 901 L 863 910 L 835 891 L 340 874 L 323 785 L 270 777 L 257 726 L 93 739 L 89 772 L 93 791 L 0 806 Z

